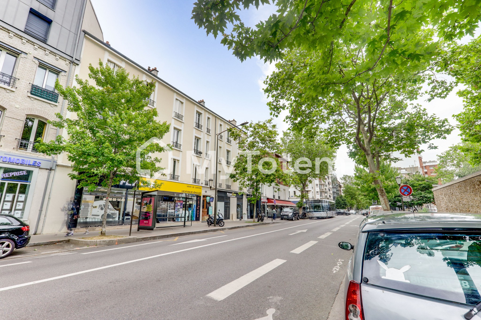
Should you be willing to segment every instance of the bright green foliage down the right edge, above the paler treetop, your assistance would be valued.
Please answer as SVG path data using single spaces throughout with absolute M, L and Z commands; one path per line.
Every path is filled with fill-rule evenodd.
M 464 110 L 454 115 L 464 144 L 458 149 L 473 166 L 481 165 L 481 37 L 466 45 L 454 45 L 443 57 L 443 69 L 465 88 L 457 92 L 463 98 Z M 465 159 L 466 156 L 463 156 Z

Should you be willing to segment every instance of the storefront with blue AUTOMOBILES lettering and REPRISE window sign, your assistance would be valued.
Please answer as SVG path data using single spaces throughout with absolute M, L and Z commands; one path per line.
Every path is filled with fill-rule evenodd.
M 48 177 L 55 169 L 51 159 L 30 155 L 0 153 L 0 214 L 22 219 L 36 219 Z

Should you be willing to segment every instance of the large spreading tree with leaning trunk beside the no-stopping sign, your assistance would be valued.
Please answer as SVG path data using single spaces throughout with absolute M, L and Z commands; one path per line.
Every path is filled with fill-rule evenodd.
M 369 169 L 381 205 L 389 210 L 379 174 L 381 159 L 399 160 L 394 152 L 414 154 L 421 144 L 444 138 L 452 128 L 447 119 L 409 104 L 418 98 L 424 73 L 405 78 L 403 72 L 385 68 L 348 81 L 366 62 L 363 51 L 350 47 L 336 51 L 327 63 L 318 53 L 292 50 L 276 64 L 265 92 L 272 98 L 271 113 L 288 110 L 286 120 L 294 129 L 320 132 L 333 146 L 351 146 L 351 157 Z

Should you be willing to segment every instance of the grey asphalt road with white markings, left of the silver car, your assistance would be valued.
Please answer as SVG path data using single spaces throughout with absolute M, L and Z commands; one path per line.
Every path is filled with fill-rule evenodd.
M 362 218 L 0 261 L 0 319 L 327 319 Z

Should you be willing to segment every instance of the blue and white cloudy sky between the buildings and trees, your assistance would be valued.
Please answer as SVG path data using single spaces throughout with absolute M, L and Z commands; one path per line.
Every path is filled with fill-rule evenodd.
M 157 67 L 159 76 L 190 97 L 205 101 L 206 107 L 226 119 L 237 122 L 259 121 L 270 117 L 267 99 L 262 88 L 266 76 L 275 70 L 258 58 L 241 62 L 220 44 L 220 38 L 207 36 L 190 19 L 193 0 L 91 0 L 99 19 L 105 41 L 143 67 Z M 128 10 L 126 10 L 128 8 Z M 275 8 L 262 6 L 259 10 L 241 13 L 247 25 L 266 19 Z M 477 32 L 479 35 L 480 32 Z M 463 39 L 463 42 L 468 39 Z M 446 99 L 415 101 L 429 113 L 448 118 L 462 110 L 462 100 L 453 91 Z M 279 131 L 287 130 L 285 113 L 276 123 Z M 427 150 L 424 160 L 436 160 L 436 155 L 460 142 L 454 130 L 446 140 L 434 140 L 438 149 Z M 399 155 L 398 155 L 399 156 Z M 413 165 L 405 159 L 394 166 Z M 347 147 L 338 150 L 335 171 L 338 177 L 354 173 L 354 162 L 347 156 Z

